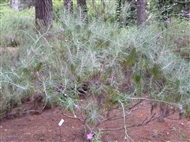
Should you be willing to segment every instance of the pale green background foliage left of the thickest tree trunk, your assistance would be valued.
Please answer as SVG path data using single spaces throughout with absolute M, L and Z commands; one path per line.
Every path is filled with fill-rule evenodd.
M 7 13 L 7 14 L 5 14 Z M 34 36 L 34 10 L 29 9 L 22 12 L 12 11 L 10 8 L 2 9 L 0 20 L 1 46 L 24 46 L 33 42 Z

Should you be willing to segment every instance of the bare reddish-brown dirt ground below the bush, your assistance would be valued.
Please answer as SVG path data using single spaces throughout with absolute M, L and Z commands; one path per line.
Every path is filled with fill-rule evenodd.
M 72 115 L 72 114 L 70 114 Z M 141 107 L 126 119 L 127 125 L 142 122 L 150 115 L 150 105 Z M 128 140 L 134 142 L 190 142 L 190 121 L 178 119 L 178 113 L 164 122 L 152 121 L 144 126 L 127 129 Z M 58 123 L 64 119 L 60 127 Z M 123 119 L 103 123 L 99 128 L 118 128 Z M 130 138 L 129 138 L 130 137 Z M 84 125 L 62 114 L 60 107 L 44 110 L 41 114 L 28 114 L 9 118 L 0 124 L 1 142 L 88 142 Z M 102 142 L 123 142 L 124 130 L 102 131 Z M 125 140 L 127 141 L 127 140 Z

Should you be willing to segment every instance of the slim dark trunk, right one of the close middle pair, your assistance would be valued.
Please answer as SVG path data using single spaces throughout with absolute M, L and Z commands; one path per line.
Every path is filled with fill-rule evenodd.
M 88 9 L 86 5 L 86 0 L 77 0 L 77 5 L 79 7 L 79 17 L 82 21 L 88 22 Z

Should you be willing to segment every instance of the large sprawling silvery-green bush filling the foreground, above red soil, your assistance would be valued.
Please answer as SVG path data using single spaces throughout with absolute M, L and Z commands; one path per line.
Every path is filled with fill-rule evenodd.
M 34 29 L 25 37 L 30 42 L 20 44 L 16 54 L 0 57 L 1 114 L 21 104 L 23 97 L 38 94 L 46 105 L 56 103 L 72 111 L 73 116 L 64 115 L 80 120 L 87 138 L 93 139 L 103 122 L 114 119 L 124 120 L 120 128 L 126 138 L 126 129 L 137 126 L 125 121 L 133 100 L 162 102 L 189 113 L 189 61 L 177 50 L 189 48 L 187 22 L 171 21 L 163 30 L 156 23 L 145 29 L 118 28 L 102 20 L 85 24 L 64 14 L 59 20 L 45 33 Z M 182 31 L 179 37 L 177 31 Z M 180 37 L 187 39 L 181 45 Z

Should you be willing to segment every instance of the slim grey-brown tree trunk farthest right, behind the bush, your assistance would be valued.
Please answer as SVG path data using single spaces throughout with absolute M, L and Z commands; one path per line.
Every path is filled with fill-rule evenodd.
M 137 26 L 144 25 L 146 21 L 146 0 L 137 0 Z

